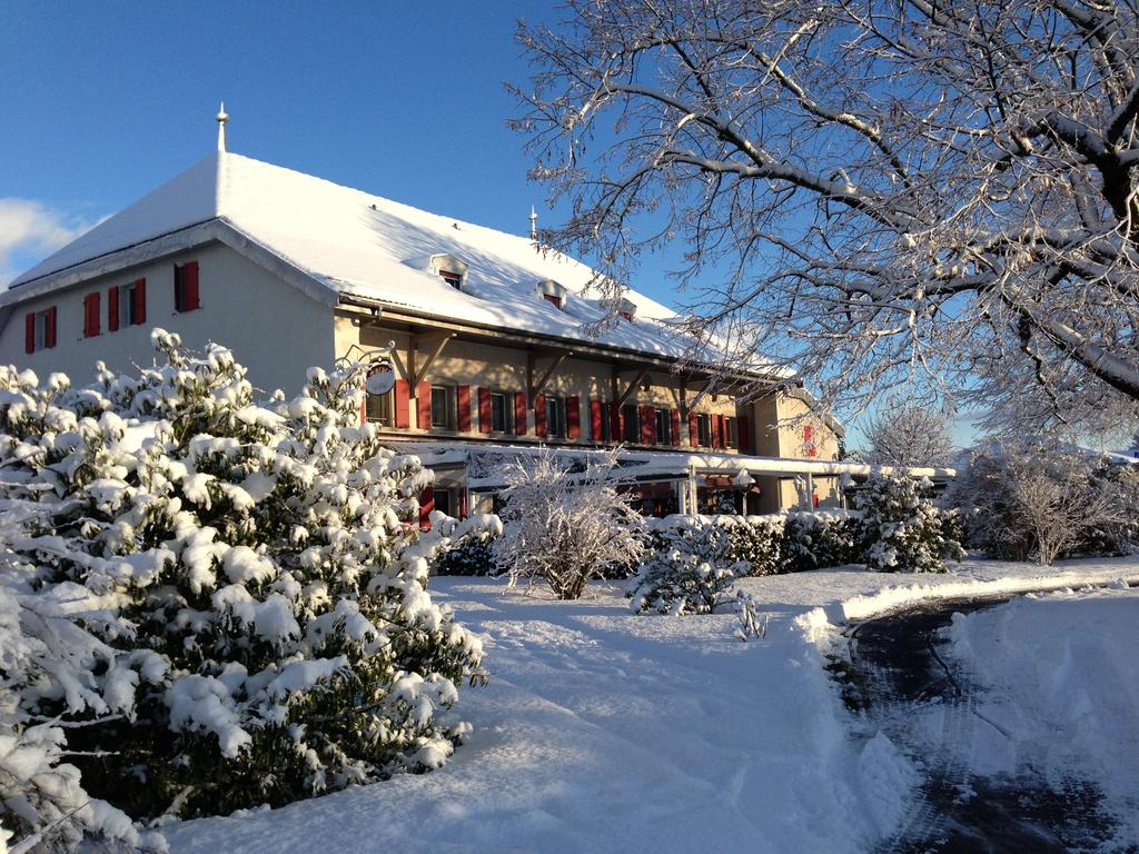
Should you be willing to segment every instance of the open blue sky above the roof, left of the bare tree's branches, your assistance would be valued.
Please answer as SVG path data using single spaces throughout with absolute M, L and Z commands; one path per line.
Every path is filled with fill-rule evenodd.
M 230 150 L 524 233 L 543 222 L 502 81 L 535 0 L 0 3 L 0 284 L 207 155 Z M 675 302 L 667 258 L 633 285 Z M 854 445 L 859 444 L 857 437 Z

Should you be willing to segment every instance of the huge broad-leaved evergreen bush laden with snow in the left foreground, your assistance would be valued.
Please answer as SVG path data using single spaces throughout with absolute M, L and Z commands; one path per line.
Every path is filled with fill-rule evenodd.
M 36 654 L 47 678 L 5 665 L 6 732 L 59 721 L 82 787 L 134 818 L 441 765 L 482 649 L 425 589 L 465 533 L 411 524 L 431 473 L 359 424 L 357 368 L 262 407 L 228 350 L 153 338 L 156 367 L 88 388 L 0 369 L 0 495 L 31 508 L 0 575 L 84 639 Z M 33 605 L 5 611 L 28 642 Z

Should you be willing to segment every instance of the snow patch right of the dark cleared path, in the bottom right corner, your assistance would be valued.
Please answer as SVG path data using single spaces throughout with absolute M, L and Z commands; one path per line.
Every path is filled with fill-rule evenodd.
M 1139 845 L 1139 590 L 1026 596 L 954 615 L 956 664 L 992 723 L 970 762 L 985 775 L 1031 766 L 1097 783 L 1118 837 Z

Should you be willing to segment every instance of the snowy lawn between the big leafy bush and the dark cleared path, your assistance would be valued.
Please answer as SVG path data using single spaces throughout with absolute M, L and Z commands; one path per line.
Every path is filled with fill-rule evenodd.
M 475 732 L 443 770 L 165 832 L 174 852 L 241 854 L 866 851 L 893 829 L 918 775 L 884 736 L 853 734 L 821 666 L 835 625 L 919 598 L 1117 578 L 1139 578 L 1139 560 L 1072 561 L 1043 576 L 983 561 L 947 576 L 751 578 L 740 586 L 771 622 L 748 643 L 732 637 L 730 614 L 632 615 L 615 584 L 559 602 L 493 580 L 436 578 L 433 593 L 484 634 L 491 672 L 487 687 L 462 692 Z M 1128 603 L 1133 634 L 1139 601 Z M 989 630 L 976 625 L 980 639 Z

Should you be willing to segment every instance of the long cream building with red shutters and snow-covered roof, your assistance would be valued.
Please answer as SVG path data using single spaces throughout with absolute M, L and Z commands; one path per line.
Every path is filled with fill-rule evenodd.
M 473 460 L 541 443 L 623 443 L 655 512 L 841 502 L 859 468 L 836 461 L 841 426 L 805 393 L 740 402 L 677 372 L 665 306 L 603 304 L 588 266 L 531 237 L 229 153 L 219 121 L 215 153 L 0 294 L 0 360 L 85 381 L 97 360 L 149 362 L 161 326 L 292 391 L 310 366 L 382 356 L 394 388 L 364 416 L 436 467 L 452 514 L 493 493 Z

